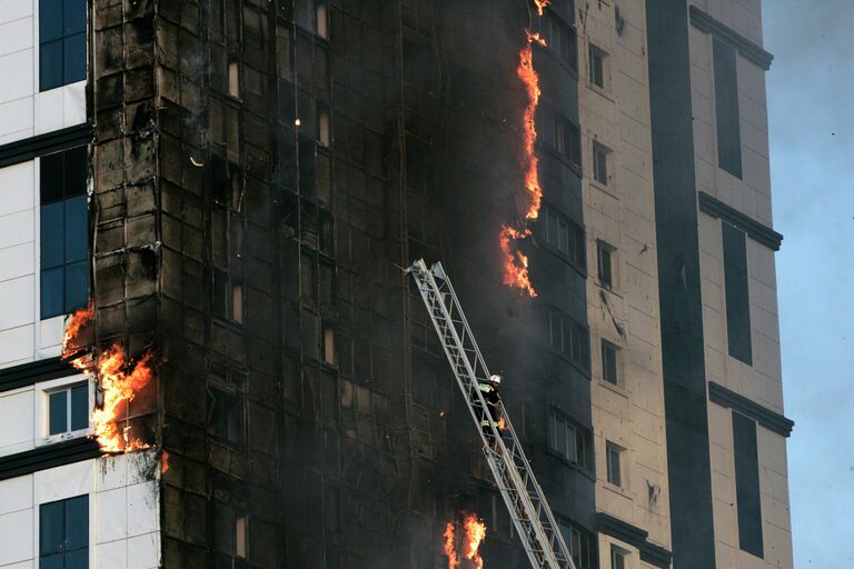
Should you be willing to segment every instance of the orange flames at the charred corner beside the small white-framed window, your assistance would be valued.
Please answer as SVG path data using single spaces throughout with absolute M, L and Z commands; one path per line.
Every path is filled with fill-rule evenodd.
M 146 448 L 147 445 L 141 440 L 130 438 L 128 429 L 119 427 L 119 422 L 127 417 L 128 403 L 151 381 L 152 353 L 147 352 L 138 361 L 132 361 L 125 356 L 121 346 L 113 345 L 95 358 L 88 353 L 79 355 L 82 348 L 78 343 L 80 330 L 91 319 L 91 303 L 69 318 L 62 357 L 71 358 L 70 363 L 75 368 L 93 376 L 103 396 L 102 405 L 92 411 L 93 437 L 103 452 L 128 452 Z

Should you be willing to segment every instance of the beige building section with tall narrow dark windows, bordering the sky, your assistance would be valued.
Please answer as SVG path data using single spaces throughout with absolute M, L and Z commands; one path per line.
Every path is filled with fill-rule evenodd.
M 718 567 L 792 567 L 759 2 L 688 9 Z

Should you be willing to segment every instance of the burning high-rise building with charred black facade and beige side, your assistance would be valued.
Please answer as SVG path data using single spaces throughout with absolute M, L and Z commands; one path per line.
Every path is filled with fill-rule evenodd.
M 421 257 L 578 569 L 792 567 L 758 0 L 0 28 L 0 567 L 524 567 Z

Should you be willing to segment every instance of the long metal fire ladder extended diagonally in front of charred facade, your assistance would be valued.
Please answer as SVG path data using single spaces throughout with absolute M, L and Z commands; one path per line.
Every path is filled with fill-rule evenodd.
M 516 431 L 513 430 L 504 402 L 498 403 L 499 417 L 505 419 L 503 428 L 499 429 L 495 421 L 489 421 L 488 428 L 480 425 L 480 418 L 489 417 L 489 411 L 478 386 L 490 375 L 441 263 L 437 262 L 428 269 L 424 259 L 419 259 L 406 269 L 406 272 L 415 278 L 421 299 L 427 306 L 450 369 L 468 403 L 477 432 L 480 433 L 486 461 L 532 567 L 576 569 L 543 489 L 534 477 Z

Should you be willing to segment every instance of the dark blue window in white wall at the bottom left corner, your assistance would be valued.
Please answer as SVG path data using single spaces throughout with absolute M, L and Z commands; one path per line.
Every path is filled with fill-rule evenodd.
M 89 496 L 39 506 L 39 567 L 89 567 Z

